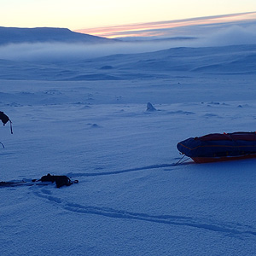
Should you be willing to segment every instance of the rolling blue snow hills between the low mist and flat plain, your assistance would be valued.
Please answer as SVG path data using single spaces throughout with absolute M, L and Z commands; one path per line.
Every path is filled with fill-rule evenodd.
M 5 50 L 3 50 L 3 55 Z M 1 55 L 1 52 L 0 52 Z M 172 79 L 195 73 L 253 74 L 255 45 L 174 48 L 143 54 L 42 62 L 0 61 L 0 79 L 57 81 Z M 45 56 L 45 55 L 44 55 Z M 56 65 L 55 63 L 59 63 Z M 102 68 L 111 67 L 111 68 Z

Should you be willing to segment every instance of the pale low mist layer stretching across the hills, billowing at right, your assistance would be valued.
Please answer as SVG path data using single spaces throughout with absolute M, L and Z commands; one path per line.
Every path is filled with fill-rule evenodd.
M 12 61 L 75 61 L 115 54 L 136 54 L 175 47 L 209 47 L 255 44 L 256 26 L 220 27 L 201 36 L 194 28 L 195 38 L 119 42 L 113 44 L 35 43 L 8 44 L 0 47 L 0 59 Z

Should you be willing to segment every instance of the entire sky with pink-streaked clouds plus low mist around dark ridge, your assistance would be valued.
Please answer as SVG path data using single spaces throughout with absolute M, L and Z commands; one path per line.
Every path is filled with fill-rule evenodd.
M 84 48 L 81 44 L 0 46 L 0 56 L 7 60 L 76 60 L 181 46 L 256 42 L 256 0 L 0 0 L 0 4 L 0 26 L 64 27 L 126 41 L 104 45 L 104 49 L 102 45 Z M 140 42 L 147 37 L 172 40 Z

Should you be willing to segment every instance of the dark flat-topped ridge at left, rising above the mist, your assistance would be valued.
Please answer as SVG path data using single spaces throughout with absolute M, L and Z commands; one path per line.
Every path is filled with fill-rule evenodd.
M 0 26 L 0 44 L 21 43 L 84 43 L 106 44 L 114 39 L 91 36 L 89 34 L 72 32 L 67 28 L 35 27 L 18 28 Z

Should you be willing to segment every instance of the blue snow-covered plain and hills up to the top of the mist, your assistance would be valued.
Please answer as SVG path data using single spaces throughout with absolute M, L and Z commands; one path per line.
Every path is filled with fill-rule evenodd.
M 0 181 L 79 183 L 0 188 L 1 255 L 255 255 L 256 160 L 176 165 L 188 137 L 256 131 L 255 31 L 2 40 Z

